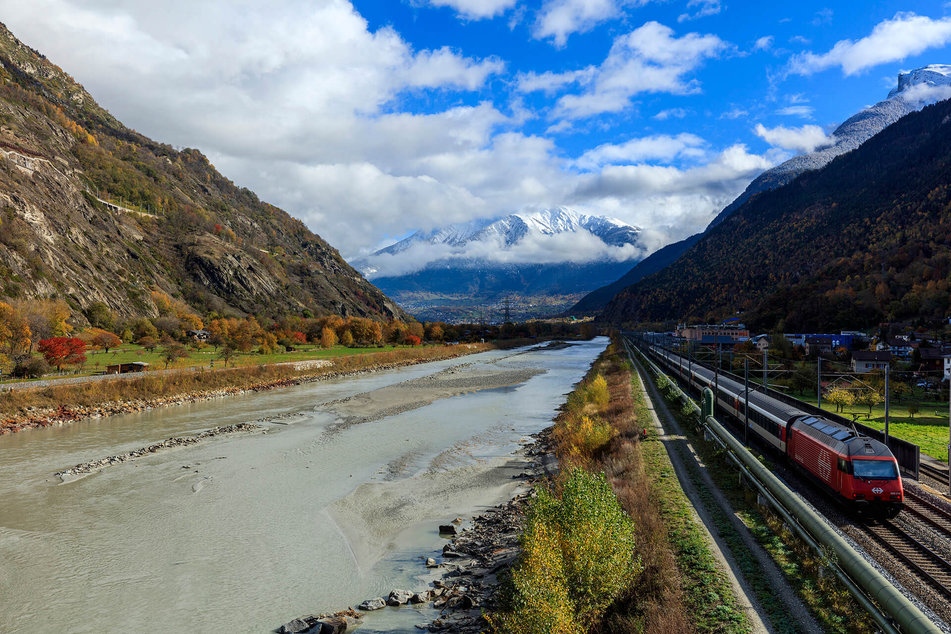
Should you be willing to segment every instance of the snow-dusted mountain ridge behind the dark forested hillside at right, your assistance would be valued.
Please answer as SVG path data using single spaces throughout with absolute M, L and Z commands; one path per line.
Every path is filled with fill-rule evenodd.
M 822 168 L 837 156 L 864 144 L 886 126 L 894 124 L 906 114 L 948 97 L 951 97 L 951 66 L 935 64 L 900 73 L 898 85 L 888 93 L 886 99 L 849 117 L 835 129 L 832 133 L 835 143 L 814 152 L 793 157 L 786 163 L 767 169 L 749 183 L 746 190 L 735 201 L 729 203 L 717 214 L 703 233 L 669 244 L 651 254 L 638 262 L 623 278 L 581 298 L 572 310 L 582 314 L 600 311 L 622 289 L 664 269 L 680 258 L 697 243 L 697 240 L 700 240 L 701 236 L 706 235 L 710 229 L 728 218 L 750 197 L 789 183 L 806 171 Z

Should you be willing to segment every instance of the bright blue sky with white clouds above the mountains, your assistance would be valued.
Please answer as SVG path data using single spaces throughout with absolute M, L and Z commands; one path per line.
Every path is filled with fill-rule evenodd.
M 158 4 L 0 10 L 126 125 L 201 148 L 349 258 L 551 205 L 641 226 L 643 255 L 899 71 L 951 63 L 943 2 Z

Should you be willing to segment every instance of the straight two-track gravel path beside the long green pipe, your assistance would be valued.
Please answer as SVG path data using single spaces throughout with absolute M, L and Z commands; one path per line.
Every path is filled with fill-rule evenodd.
M 654 427 L 657 429 L 657 433 L 660 434 L 661 440 L 664 441 L 664 446 L 670 456 L 670 462 L 673 465 L 674 471 L 677 473 L 677 479 L 680 480 L 680 486 L 687 494 L 690 503 L 697 512 L 698 519 L 707 531 L 710 546 L 714 554 L 727 570 L 730 583 L 733 586 L 733 592 L 746 610 L 747 618 L 752 625 L 752 631 L 756 633 L 770 632 L 771 634 L 774 629 L 769 621 L 766 610 L 760 605 L 755 593 L 744 578 L 733 553 L 730 551 L 723 537 L 720 536 L 719 530 L 713 523 L 708 509 L 704 506 L 697 491 L 694 490 L 688 473 L 688 465 L 700 474 L 704 482 L 704 487 L 708 492 L 712 493 L 717 502 L 717 506 L 727 514 L 730 523 L 743 540 L 744 545 L 762 567 L 763 574 L 767 575 L 770 586 L 775 588 L 777 597 L 786 605 L 788 614 L 792 617 L 792 620 L 799 625 L 799 631 L 809 634 L 822 634 L 823 629 L 816 623 L 815 619 L 812 618 L 812 614 L 808 608 L 805 607 L 795 591 L 786 584 L 786 578 L 783 576 L 783 572 L 776 566 L 776 563 L 772 560 L 772 557 L 769 556 L 769 553 L 756 541 L 747 526 L 737 516 L 736 511 L 732 509 L 726 496 L 713 482 L 706 466 L 690 445 L 687 437 L 681 431 L 676 418 L 670 413 L 663 397 L 658 394 L 654 382 L 648 377 L 648 373 L 636 359 L 635 364 L 641 376 L 641 389 L 644 391 Z M 663 422 L 661 422 L 661 420 L 663 420 Z M 670 430 L 670 433 L 668 430 Z

